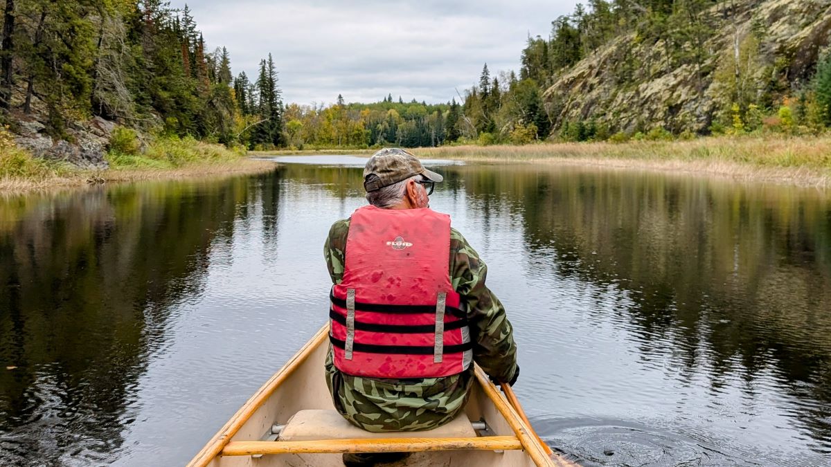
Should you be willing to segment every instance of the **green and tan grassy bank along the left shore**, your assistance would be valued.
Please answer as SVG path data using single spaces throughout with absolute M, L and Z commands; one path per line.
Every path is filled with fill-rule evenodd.
M 273 170 L 274 164 L 249 159 L 241 151 L 193 139 L 155 140 L 140 152 L 120 148 L 106 156 L 110 168 L 84 170 L 32 158 L 16 147 L 0 150 L 0 193 L 24 193 L 54 188 L 150 179 L 188 179 L 205 176 L 253 175 Z

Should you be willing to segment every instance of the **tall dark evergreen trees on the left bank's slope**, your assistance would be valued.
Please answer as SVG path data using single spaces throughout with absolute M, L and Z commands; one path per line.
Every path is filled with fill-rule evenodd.
M 272 57 L 234 79 L 229 52 L 208 52 L 189 7 L 161 0 L 6 0 L 0 110 L 40 120 L 54 138 L 101 116 L 225 144 L 283 145 Z

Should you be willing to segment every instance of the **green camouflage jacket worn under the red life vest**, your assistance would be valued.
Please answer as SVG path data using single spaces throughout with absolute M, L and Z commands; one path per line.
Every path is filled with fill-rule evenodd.
M 349 219 L 332 224 L 323 247 L 332 283 L 341 283 Z M 513 328 L 499 299 L 484 285 L 487 267 L 455 229 L 450 229 L 450 280 L 468 305 L 474 361 L 499 381 L 518 371 Z M 326 361 L 326 376 L 337 410 L 368 431 L 431 430 L 465 408 L 474 381 L 473 366 L 459 375 L 416 380 L 382 380 L 347 375 Z

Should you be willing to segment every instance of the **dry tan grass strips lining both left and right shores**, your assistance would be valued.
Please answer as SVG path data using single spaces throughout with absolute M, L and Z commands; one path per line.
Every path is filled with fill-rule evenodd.
M 268 155 L 371 155 L 375 150 L 277 150 L 251 153 L 252 158 L 194 140 L 168 141 L 165 155 L 181 151 L 185 160 L 171 164 L 160 157 L 134 158 L 109 170 L 40 167 L 37 175 L 0 176 L 0 193 L 17 194 L 52 188 L 78 188 L 100 183 L 148 179 L 187 179 L 204 176 L 247 175 L 272 170 Z M 178 151 L 178 152 L 177 152 Z M 689 141 L 632 141 L 613 143 L 546 143 L 536 145 L 442 146 L 418 148 L 426 159 L 455 159 L 488 163 L 578 165 L 613 170 L 648 170 L 831 188 L 831 137 L 815 138 L 701 138 Z M 124 160 L 124 158 L 122 158 Z M 159 161 L 165 166 L 158 166 Z M 148 165 L 152 163 L 152 165 Z M 41 164 L 37 162 L 37 164 Z M 156 165 L 156 166 L 154 166 Z M 2 167 L 0 167 L 2 169 Z M 2 172 L 2 171 L 0 171 Z

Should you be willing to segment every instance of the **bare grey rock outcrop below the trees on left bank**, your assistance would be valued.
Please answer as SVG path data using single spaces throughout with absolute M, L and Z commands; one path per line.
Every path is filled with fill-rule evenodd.
M 76 141 L 55 141 L 43 133 L 46 126 L 38 121 L 17 122 L 17 145 L 28 150 L 35 157 L 61 160 L 83 169 L 106 169 L 106 145 L 116 124 L 95 117 L 85 124 L 70 125 L 69 134 Z

